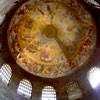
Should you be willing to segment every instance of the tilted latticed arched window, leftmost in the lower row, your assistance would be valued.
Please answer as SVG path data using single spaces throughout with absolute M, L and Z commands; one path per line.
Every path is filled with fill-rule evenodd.
M 3 64 L 0 69 L 0 78 L 6 85 L 8 85 L 11 76 L 12 76 L 11 67 L 8 64 Z

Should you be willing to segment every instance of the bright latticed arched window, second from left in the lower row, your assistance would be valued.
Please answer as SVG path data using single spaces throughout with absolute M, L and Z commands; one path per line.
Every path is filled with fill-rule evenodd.
M 32 94 L 31 82 L 26 79 L 21 80 L 17 89 L 17 93 L 30 99 Z

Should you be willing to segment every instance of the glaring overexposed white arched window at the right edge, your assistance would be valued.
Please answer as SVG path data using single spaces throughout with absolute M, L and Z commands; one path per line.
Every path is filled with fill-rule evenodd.
M 94 67 L 88 72 L 88 80 L 93 88 L 100 85 L 100 68 Z

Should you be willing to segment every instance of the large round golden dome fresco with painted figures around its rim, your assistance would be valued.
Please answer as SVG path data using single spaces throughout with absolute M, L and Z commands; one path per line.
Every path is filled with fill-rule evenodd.
M 8 29 L 9 49 L 17 64 L 47 78 L 68 75 L 84 65 L 95 43 L 95 25 L 78 0 L 28 1 Z

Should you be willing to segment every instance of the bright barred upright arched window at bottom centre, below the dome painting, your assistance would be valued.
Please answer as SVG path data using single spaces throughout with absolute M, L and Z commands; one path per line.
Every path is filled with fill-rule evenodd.
M 41 100 L 56 100 L 56 91 L 52 86 L 45 86 L 42 89 Z

